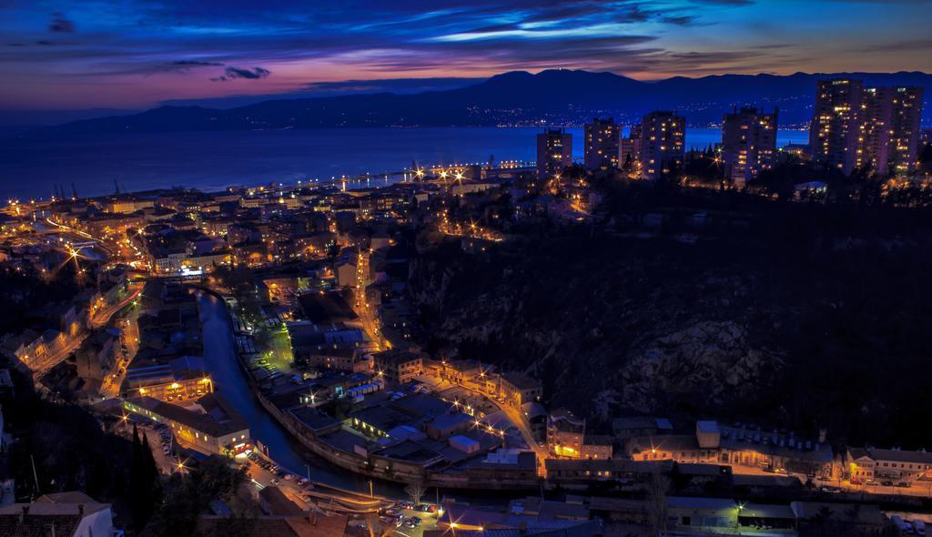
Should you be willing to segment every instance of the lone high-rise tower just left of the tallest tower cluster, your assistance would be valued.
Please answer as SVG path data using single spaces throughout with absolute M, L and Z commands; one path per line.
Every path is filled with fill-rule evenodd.
M 726 177 L 736 187 L 745 186 L 762 170 L 774 166 L 776 117 L 757 108 L 725 114 L 721 124 L 721 159 Z

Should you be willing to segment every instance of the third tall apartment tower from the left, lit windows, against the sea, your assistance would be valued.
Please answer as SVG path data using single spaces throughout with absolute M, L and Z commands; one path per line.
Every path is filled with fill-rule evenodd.
M 641 119 L 640 161 L 644 179 L 657 179 L 683 164 L 686 119 L 673 112 L 651 112 Z

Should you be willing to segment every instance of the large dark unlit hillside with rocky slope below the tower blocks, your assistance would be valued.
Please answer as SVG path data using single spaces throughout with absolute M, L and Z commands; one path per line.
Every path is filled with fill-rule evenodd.
M 423 253 L 411 290 L 430 350 L 536 374 L 551 406 L 596 422 L 656 413 L 932 446 L 915 426 L 932 418 L 927 216 L 677 205 L 646 208 L 670 215 L 663 227 Z

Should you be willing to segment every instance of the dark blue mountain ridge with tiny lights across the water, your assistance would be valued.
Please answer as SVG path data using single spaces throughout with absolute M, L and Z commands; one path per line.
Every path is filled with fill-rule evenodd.
M 654 109 L 675 109 L 691 125 L 717 123 L 742 104 L 778 106 L 780 124 L 801 126 L 811 115 L 816 80 L 860 78 L 868 85 L 925 88 L 925 123 L 932 122 L 932 76 L 925 73 L 797 73 L 790 76 L 674 77 L 641 82 L 610 73 L 551 70 L 493 76 L 457 90 L 400 95 L 375 93 L 279 99 L 229 109 L 162 106 L 131 116 L 66 123 L 53 132 L 241 131 L 319 127 L 489 126 L 573 124 L 612 116 L 630 123 Z

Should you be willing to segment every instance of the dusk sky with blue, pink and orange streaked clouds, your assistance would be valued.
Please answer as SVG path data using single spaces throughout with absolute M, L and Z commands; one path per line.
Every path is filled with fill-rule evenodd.
M 458 82 L 406 79 L 517 69 L 932 71 L 930 19 L 929 0 L 0 0 L 0 110 L 419 90 Z

